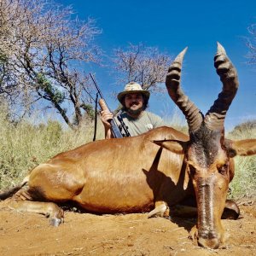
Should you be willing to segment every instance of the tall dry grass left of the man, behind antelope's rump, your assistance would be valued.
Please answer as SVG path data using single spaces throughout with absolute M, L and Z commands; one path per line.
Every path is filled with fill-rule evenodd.
M 34 125 L 32 120 L 10 122 L 8 111 L 0 108 L 0 189 L 20 183 L 26 173 L 55 154 L 92 141 L 94 125 L 84 123 L 78 130 L 63 129 L 57 121 Z M 43 121 L 43 120 L 42 120 Z M 103 129 L 98 125 L 97 139 Z

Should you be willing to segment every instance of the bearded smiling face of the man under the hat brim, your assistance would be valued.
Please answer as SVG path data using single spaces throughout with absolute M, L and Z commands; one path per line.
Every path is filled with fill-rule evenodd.
M 143 95 L 141 93 L 127 94 L 125 96 L 125 108 L 127 108 L 128 113 L 141 113 L 143 110 Z

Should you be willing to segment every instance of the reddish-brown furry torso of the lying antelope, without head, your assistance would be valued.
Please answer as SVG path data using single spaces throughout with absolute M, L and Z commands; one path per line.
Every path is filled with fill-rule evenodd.
M 32 170 L 28 188 L 16 199 L 30 200 L 22 207 L 32 206 L 32 201 L 45 201 L 41 207 L 48 207 L 48 201 L 75 201 L 100 213 L 148 212 L 160 203 L 172 207 L 194 192 L 185 148 L 177 153 L 172 144 L 172 153 L 152 143 L 162 138 L 180 140 L 184 146 L 189 137 L 160 127 L 139 137 L 102 140 L 57 154 Z

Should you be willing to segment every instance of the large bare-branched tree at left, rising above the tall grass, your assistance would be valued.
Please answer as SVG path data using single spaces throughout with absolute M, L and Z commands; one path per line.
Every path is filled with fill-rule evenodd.
M 0 2 L 0 93 L 28 107 L 43 101 L 72 128 L 91 112 L 84 64 L 101 62 L 95 20 L 73 17 L 47 0 Z

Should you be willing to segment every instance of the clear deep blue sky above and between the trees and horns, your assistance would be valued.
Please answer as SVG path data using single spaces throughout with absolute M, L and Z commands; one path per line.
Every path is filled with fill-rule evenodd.
M 108 54 L 125 48 L 129 43 L 158 47 L 160 52 L 176 56 L 189 47 L 183 61 L 182 87 L 189 99 L 203 113 L 212 106 L 222 84 L 213 66 L 217 41 L 238 71 L 240 88 L 226 115 L 225 128 L 256 119 L 256 66 L 247 65 L 247 27 L 256 23 L 256 1 L 247 0 L 55 0 L 72 5 L 80 20 L 96 20 L 102 34 L 96 43 Z M 171 64 L 171 63 L 170 63 Z M 118 102 L 111 97 L 113 90 L 121 91 L 125 84 L 114 84 L 113 75 L 102 68 L 91 70 L 102 88 L 108 106 L 115 109 Z M 152 95 L 149 111 L 162 117 L 177 112 L 166 94 Z M 179 110 L 178 110 L 179 111 Z

